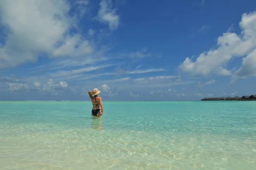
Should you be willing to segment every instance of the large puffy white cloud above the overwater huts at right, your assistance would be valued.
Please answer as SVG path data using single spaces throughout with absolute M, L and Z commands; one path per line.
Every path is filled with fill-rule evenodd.
M 256 71 L 251 68 L 256 68 L 253 64 L 256 61 L 255 51 L 253 51 L 256 48 L 256 12 L 243 14 L 239 26 L 242 30 L 240 35 L 231 32 L 224 33 L 218 37 L 217 49 L 201 53 L 195 62 L 187 57 L 179 68 L 192 75 L 230 76 L 232 71 L 226 68 L 230 59 L 248 55 L 236 72 L 236 76 L 254 75 Z

